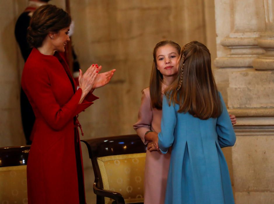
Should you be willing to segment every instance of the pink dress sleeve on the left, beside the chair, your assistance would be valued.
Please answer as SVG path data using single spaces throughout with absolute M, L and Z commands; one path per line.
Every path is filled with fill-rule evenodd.
M 142 102 L 138 113 L 138 121 L 133 125 L 137 135 L 142 139 L 146 145 L 148 141 L 145 140 L 146 131 L 151 130 L 152 108 L 150 103 L 149 88 L 143 90 Z

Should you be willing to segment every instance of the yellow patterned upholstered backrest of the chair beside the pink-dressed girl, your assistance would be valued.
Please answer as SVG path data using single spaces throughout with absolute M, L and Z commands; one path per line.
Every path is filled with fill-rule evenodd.
M 98 157 L 104 189 L 121 193 L 125 203 L 144 202 L 145 159 L 146 153 Z M 105 197 L 105 204 L 113 201 Z

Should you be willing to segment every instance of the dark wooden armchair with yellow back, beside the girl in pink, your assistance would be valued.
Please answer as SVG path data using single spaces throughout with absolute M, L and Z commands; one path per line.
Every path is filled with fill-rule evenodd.
M 82 140 L 92 162 L 97 204 L 144 202 L 146 145 L 137 135 Z

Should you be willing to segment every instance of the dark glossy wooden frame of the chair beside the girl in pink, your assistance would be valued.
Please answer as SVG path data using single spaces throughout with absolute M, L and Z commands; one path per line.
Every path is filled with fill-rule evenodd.
M 123 196 L 114 191 L 103 189 L 103 181 L 100 174 L 98 157 L 112 156 L 120 154 L 145 153 L 146 145 L 138 135 L 123 135 L 105 138 L 93 138 L 81 140 L 88 147 L 88 154 L 93 166 L 95 180 L 93 183 L 93 192 L 96 194 L 96 203 L 104 203 L 104 197 L 112 198 L 114 204 L 125 204 Z

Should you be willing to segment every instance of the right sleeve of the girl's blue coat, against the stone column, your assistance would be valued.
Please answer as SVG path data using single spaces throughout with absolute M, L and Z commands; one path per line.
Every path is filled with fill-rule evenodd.
M 220 100 L 222 104 L 222 113 L 217 118 L 217 124 L 216 124 L 218 142 L 221 148 L 230 147 L 235 144 L 236 136 L 235 136 L 235 132 L 234 132 L 230 117 L 226 110 L 226 105 L 224 103 L 223 97 L 221 93 L 219 93 L 219 95 L 220 95 Z

